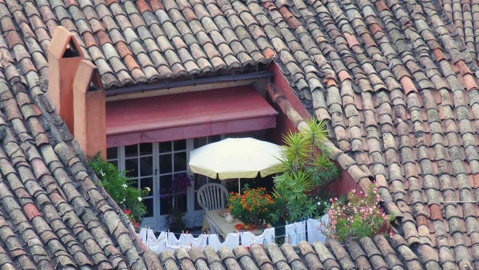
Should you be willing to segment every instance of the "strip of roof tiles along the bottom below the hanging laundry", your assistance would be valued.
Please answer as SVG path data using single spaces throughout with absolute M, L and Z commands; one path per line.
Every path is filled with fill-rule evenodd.
M 213 247 L 200 250 L 179 248 L 175 254 L 165 250 L 160 253 L 165 270 L 421 270 L 420 259 L 408 247 L 401 236 L 395 235 L 391 245 L 383 235 L 373 239 L 337 240 L 327 247 L 321 242 L 311 246 L 303 241 L 298 246 L 268 244 L 252 245 L 249 249 L 238 246 L 230 250 Z M 395 251 L 397 250 L 397 252 Z M 436 263 L 437 264 L 437 263 Z

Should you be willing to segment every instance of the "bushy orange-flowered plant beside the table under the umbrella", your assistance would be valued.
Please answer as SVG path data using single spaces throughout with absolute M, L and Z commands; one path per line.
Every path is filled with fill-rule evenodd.
M 240 222 L 246 225 L 261 226 L 263 223 L 274 223 L 278 220 L 275 201 L 266 193 L 266 188 L 251 189 L 246 184 L 242 195 L 230 192 L 228 208 Z

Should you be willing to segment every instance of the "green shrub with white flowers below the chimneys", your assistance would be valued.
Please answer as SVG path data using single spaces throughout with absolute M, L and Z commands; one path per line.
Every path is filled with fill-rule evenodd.
M 106 162 L 100 153 L 92 157 L 90 167 L 102 182 L 103 188 L 125 212 L 130 221 L 139 224 L 141 217 L 146 213 L 146 207 L 141 202 L 142 197 L 148 196 L 148 188 L 132 187 L 137 183 L 125 176 L 125 171 L 118 171 L 114 164 Z

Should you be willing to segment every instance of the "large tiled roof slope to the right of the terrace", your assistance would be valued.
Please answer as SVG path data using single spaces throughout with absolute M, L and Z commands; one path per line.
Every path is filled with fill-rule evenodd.
M 461 3 L 467 14 L 467 1 Z M 252 11 L 256 3 L 247 5 Z M 398 216 L 396 230 L 427 269 L 477 268 L 476 56 L 447 9 L 430 0 L 263 0 L 262 6 L 286 41 L 283 48 L 273 43 L 285 77 L 308 112 L 329 121 L 333 158 L 361 187 L 379 184 L 386 211 Z M 472 4 L 476 24 L 477 8 Z M 469 36 L 470 22 L 464 15 Z M 282 108 L 304 125 L 290 105 Z

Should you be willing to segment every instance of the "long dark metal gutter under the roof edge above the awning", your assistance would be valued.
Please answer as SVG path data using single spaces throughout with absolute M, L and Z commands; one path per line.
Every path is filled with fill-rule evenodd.
M 269 78 L 273 76 L 274 76 L 273 71 L 259 71 L 259 72 L 251 72 L 246 74 L 208 77 L 208 78 L 193 79 L 193 80 L 178 81 L 178 82 L 149 83 L 149 84 L 123 87 L 118 89 L 105 90 L 105 96 L 115 96 L 120 94 L 147 92 L 147 91 L 153 91 L 153 90 L 171 89 L 171 88 L 177 88 L 177 87 L 195 86 L 195 85 L 210 84 L 210 83 L 246 81 L 246 80 L 253 80 L 253 79 Z

